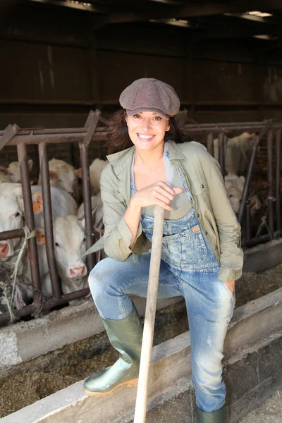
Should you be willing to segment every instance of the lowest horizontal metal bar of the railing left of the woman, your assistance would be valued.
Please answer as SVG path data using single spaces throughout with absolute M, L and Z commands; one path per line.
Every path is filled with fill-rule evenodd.
M 55 307 L 57 305 L 66 304 L 66 302 L 68 302 L 68 301 L 77 300 L 78 298 L 85 297 L 89 293 L 90 293 L 90 289 L 84 288 L 84 289 L 81 289 L 81 290 L 78 290 L 78 291 L 74 291 L 73 293 L 63 295 L 58 300 L 51 298 L 50 300 L 47 300 L 47 301 L 44 302 L 41 309 L 42 310 L 48 310 L 48 309 L 51 309 L 52 307 Z M 14 314 L 15 317 L 20 318 L 20 317 L 24 317 L 24 316 L 34 314 L 35 312 L 37 312 L 37 309 L 38 308 L 36 307 L 36 305 L 26 305 L 25 307 L 23 307 L 19 310 L 13 310 L 13 314 Z M 0 326 L 2 324 L 7 324 L 9 321 L 10 321 L 10 314 L 8 312 L 0 314 Z

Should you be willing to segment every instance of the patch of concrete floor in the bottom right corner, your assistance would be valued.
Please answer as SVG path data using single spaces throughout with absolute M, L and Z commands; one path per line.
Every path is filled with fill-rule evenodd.
M 252 410 L 240 423 L 281 423 L 282 390 L 277 391 L 264 405 Z

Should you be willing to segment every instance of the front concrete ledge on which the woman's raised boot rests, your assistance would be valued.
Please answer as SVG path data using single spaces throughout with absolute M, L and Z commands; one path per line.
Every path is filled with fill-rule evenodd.
M 264 324 L 262 324 L 264 322 Z M 275 323 L 275 324 L 274 324 Z M 262 343 L 262 338 L 271 336 L 275 331 L 282 329 L 282 288 L 265 295 L 252 302 L 243 305 L 235 310 L 233 321 L 228 328 L 226 336 L 225 352 L 226 359 L 230 359 L 229 364 L 239 363 L 244 357 L 253 357 L 250 351 L 242 353 L 247 345 Z M 269 342 L 276 339 L 281 341 L 282 334 L 272 336 Z M 252 347 L 250 347 L 252 348 Z M 253 347 L 257 348 L 257 347 Z M 259 347 L 260 348 L 260 347 Z M 266 348 L 267 349 L 267 348 Z M 234 356 L 233 354 L 237 352 Z M 278 363 L 282 355 L 282 348 L 276 351 L 273 363 Z M 280 356 L 279 356 L 280 354 Z M 268 360 L 252 358 L 252 375 L 247 391 L 255 388 L 258 383 L 272 377 L 273 373 L 278 374 L 274 369 L 274 364 Z M 279 358 L 279 360 L 278 360 Z M 245 360 L 245 359 L 244 359 Z M 248 358 L 246 360 L 249 360 Z M 255 361 L 254 361 L 255 360 Z M 250 364 L 250 360 L 249 360 Z M 228 364 L 227 364 L 228 365 Z M 254 374 L 259 368 L 259 374 Z M 231 403 L 237 401 L 245 395 L 245 390 L 240 386 L 245 384 L 245 379 L 249 370 L 241 372 L 242 379 L 238 379 L 239 364 L 235 365 L 233 379 L 231 381 Z M 245 365 L 245 367 L 247 367 Z M 281 367 L 281 366 L 280 366 Z M 233 368 L 233 367 L 232 367 Z M 280 369 L 280 371 L 282 371 Z M 244 374 L 245 372 L 245 374 Z M 229 374 L 229 371 L 228 371 Z M 156 403 L 158 398 L 169 396 L 171 389 L 179 388 L 179 381 L 187 379 L 191 375 L 190 365 L 190 336 L 189 332 L 183 333 L 170 341 L 153 348 L 152 368 L 149 377 L 149 398 L 148 403 Z M 269 376 L 270 375 L 270 376 Z M 232 378 L 231 378 L 232 379 Z M 236 381 L 236 382 L 235 382 Z M 83 381 L 69 386 L 59 393 L 37 401 L 37 403 L 23 408 L 2 419 L 3 423 L 125 423 L 130 417 L 135 407 L 136 388 L 120 388 L 108 397 L 87 398 L 82 394 Z M 190 395 L 190 394 L 189 394 Z M 192 409 L 191 409 L 192 410 Z M 157 422 L 157 420 L 156 420 Z M 163 420 L 162 420 L 163 422 Z M 165 420 L 164 420 L 165 422 Z M 184 420 L 183 420 L 184 422 Z M 189 420 L 185 420 L 185 423 Z

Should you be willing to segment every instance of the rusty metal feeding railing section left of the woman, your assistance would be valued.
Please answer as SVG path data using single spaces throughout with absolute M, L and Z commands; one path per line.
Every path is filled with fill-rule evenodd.
M 43 309 L 50 309 L 56 305 L 65 304 L 68 301 L 82 298 L 90 290 L 85 288 L 77 290 L 66 295 L 62 294 L 59 274 L 56 267 L 54 253 L 53 221 L 51 214 L 51 191 L 49 180 L 49 164 L 47 157 L 47 148 L 51 143 L 78 142 L 80 147 L 80 163 L 82 168 L 82 195 L 85 205 L 85 238 L 86 247 L 89 248 L 94 243 L 94 231 L 92 224 L 92 207 L 90 195 L 90 170 L 88 163 L 88 147 L 90 141 L 106 140 L 106 134 L 109 132 L 105 127 L 97 128 L 98 121 L 101 118 L 99 110 L 90 111 L 85 123 L 85 128 L 75 129 L 54 129 L 54 130 L 20 130 L 18 125 L 9 125 L 6 130 L 0 132 L 0 149 L 5 145 L 16 145 L 18 150 L 18 161 L 20 164 L 20 176 L 23 188 L 23 203 L 25 208 L 25 224 L 30 233 L 35 229 L 35 217 L 32 207 L 32 193 L 30 189 L 30 178 L 27 166 L 27 149 L 29 144 L 38 145 L 40 173 L 42 178 L 42 200 L 44 208 L 44 227 L 46 238 L 47 262 L 51 279 L 51 288 L 53 298 L 46 299 L 41 293 L 39 262 L 37 255 L 36 238 L 28 240 L 28 254 L 30 260 L 30 271 L 33 288 L 33 304 L 26 305 L 21 309 L 13 309 L 14 317 L 20 318 L 28 315 L 37 315 Z M 23 229 L 5 231 L 0 233 L 0 241 L 12 238 L 23 238 L 25 232 Z M 90 271 L 95 264 L 94 255 L 87 256 L 87 270 Z M 9 313 L 0 314 L 0 325 L 6 324 L 10 319 Z

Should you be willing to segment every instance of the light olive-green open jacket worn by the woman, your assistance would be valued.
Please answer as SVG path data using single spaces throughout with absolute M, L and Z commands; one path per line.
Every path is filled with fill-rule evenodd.
M 129 248 L 132 233 L 125 223 L 124 214 L 130 202 L 130 167 L 134 151 L 133 146 L 107 156 L 109 164 L 102 171 L 100 182 L 104 236 L 86 254 L 104 247 L 106 255 L 123 262 L 131 253 L 142 254 L 152 247 L 139 223 L 135 243 Z M 168 152 L 171 163 L 178 162 L 185 175 L 197 217 L 219 259 L 218 278 L 221 281 L 240 278 L 243 267 L 241 228 L 228 200 L 219 162 L 198 142 L 176 144 L 171 141 Z

